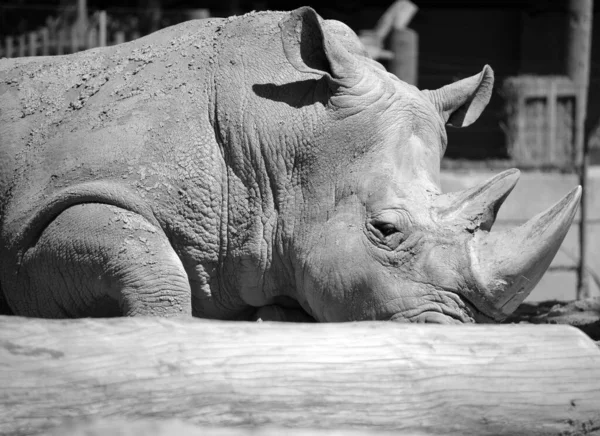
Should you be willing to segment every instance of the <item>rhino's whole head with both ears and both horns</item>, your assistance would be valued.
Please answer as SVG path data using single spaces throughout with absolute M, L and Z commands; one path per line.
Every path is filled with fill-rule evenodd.
M 441 192 L 445 126 L 479 117 L 492 69 L 421 91 L 368 59 L 349 28 L 310 8 L 292 12 L 280 28 L 287 60 L 328 85 L 328 118 L 302 173 L 301 218 L 290 243 L 303 308 L 319 321 L 508 316 L 556 254 L 581 188 L 503 232 L 490 230 L 518 170 Z

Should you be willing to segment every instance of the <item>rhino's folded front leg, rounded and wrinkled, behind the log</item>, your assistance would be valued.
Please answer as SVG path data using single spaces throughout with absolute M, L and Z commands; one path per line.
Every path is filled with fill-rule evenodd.
M 41 317 L 191 316 L 187 274 L 162 229 L 107 204 L 58 215 L 27 250 L 9 295 Z

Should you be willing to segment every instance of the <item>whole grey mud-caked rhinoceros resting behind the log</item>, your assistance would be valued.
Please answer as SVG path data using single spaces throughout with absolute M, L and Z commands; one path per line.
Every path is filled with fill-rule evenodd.
M 500 321 L 575 188 L 490 232 L 519 172 L 442 193 L 489 66 L 419 90 L 304 7 L 0 61 L 0 288 L 18 315 Z

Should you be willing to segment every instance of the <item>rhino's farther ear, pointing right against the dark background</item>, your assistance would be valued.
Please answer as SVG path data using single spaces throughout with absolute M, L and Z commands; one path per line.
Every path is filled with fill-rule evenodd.
M 448 125 L 466 127 L 481 115 L 492 96 L 494 71 L 489 65 L 475 76 L 468 77 L 435 91 L 424 90 Z

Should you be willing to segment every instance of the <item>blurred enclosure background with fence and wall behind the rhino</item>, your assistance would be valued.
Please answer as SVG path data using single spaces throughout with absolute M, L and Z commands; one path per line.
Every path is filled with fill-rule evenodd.
M 190 19 L 312 6 L 349 25 L 370 56 L 432 89 L 494 69 L 494 95 L 449 129 L 445 191 L 500 169 L 521 181 L 497 228 L 584 186 L 579 216 L 530 300 L 600 296 L 600 10 L 593 0 L 2 0 L 0 57 L 60 55 L 143 37 Z M 581 219 L 584 216 L 584 219 Z

